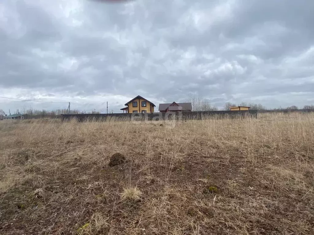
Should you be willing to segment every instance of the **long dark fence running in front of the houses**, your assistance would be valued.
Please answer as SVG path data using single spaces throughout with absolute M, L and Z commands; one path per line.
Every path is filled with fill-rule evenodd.
M 203 120 L 208 118 L 257 118 L 257 110 L 249 111 L 204 111 L 204 112 L 168 112 L 168 113 L 108 113 L 108 114 L 61 114 L 63 121 L 76 119 L 85 121 L 162 121 L 162 120 Z

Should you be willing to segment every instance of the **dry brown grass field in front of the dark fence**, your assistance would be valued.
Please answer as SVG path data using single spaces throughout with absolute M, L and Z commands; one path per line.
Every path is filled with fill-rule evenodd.
M 0 234 L 313 234 L 313 113 L 160 123 L 0 122 Z

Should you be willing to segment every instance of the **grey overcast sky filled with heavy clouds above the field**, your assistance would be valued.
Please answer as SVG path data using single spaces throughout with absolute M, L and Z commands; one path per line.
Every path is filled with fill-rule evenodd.
M 314 104 L 313 0 L 1 0 L 0 96 L 120 108 L 198 92 L 273 107 Z M 67 108 L 12 101 L 0 108 Z M 158 109 L 157 109 L 158 110 Z

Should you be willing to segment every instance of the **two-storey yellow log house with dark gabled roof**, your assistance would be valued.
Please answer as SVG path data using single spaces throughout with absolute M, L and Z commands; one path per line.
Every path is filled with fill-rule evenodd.
M 133 98 L 125 106 L 127 107 L 121 109 L 123 113 L 151 113 L 154 112 L 154 107 L 156 107 L 152 102 L 141 96 Z

